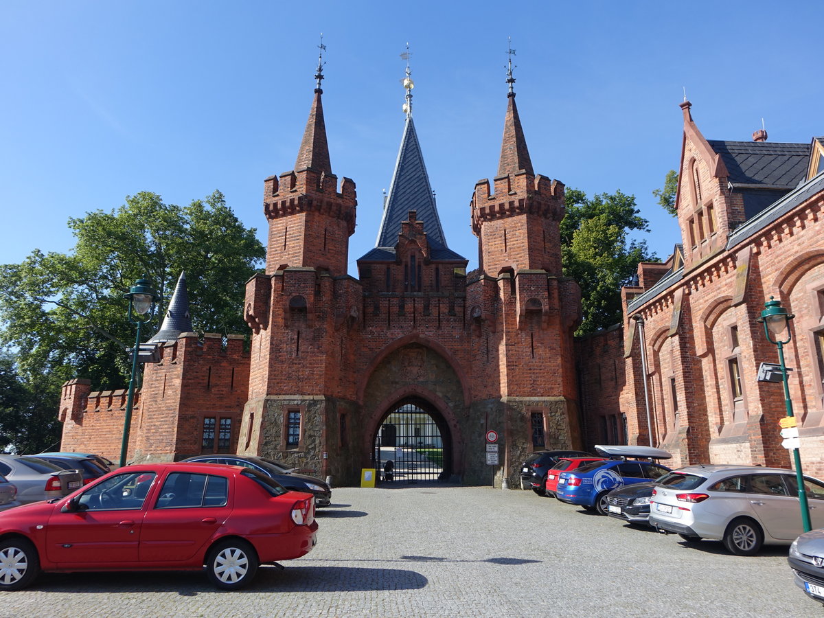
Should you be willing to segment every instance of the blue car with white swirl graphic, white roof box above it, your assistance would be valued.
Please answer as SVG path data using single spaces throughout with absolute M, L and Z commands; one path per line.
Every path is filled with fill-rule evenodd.
M 555 497 L 561 502 L 578 504 L 588 511 L 597 510 L 606 515 L 609 508 L 606 494 L 612 489 L 648 483 L 670 471 L 667 466 L 654 461 L 672 457 L 659 448 L 596 445 L 595 450 L 611 459 L 592 461 L 578 470 L 561 472 L 555 490 Z

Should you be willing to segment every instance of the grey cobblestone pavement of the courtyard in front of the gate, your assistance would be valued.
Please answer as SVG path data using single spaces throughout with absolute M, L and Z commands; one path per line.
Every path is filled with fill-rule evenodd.
M 786 548 L 623 525 L 531 491 L 335 488 L 318 545 L 249 588 L 203 574 L 45 574 L 0 594 L 0 616 L 819 616 Z

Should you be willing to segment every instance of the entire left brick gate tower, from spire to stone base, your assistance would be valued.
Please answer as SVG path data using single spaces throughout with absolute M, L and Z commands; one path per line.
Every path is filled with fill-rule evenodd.
M 322 54 L 322 49 L 321 49 Z M 295 169 L 264 181 L 265 274 L 246 283 L 251 368 L 238 452 L 325 451 L 325 397 L 339 396 L 349 348 L 335 320 L 352 303 L 347 276 L 355 185 L 332 173 L 321 104 L 322 59 Z M 283 458 L 288 459 L 288 456 Z M 317 463 L 314 461 L 314 463 Z

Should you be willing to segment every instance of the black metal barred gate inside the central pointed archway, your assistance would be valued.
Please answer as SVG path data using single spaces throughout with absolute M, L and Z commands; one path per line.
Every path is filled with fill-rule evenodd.
M 445 480 L 442 425 L 414 403 L 387 414 L 377 430 L 373 455 L 382 483 Z

